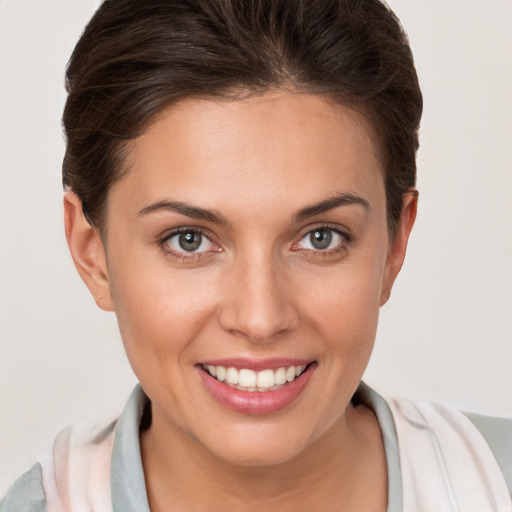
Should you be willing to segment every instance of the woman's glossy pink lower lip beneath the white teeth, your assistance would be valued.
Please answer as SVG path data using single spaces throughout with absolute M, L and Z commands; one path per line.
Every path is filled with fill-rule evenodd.
M 310 364 L 295 380 L 273 391 L 242 391 L 218 381 L 201 367 L 197 367 L 197 372 L 206 389 L 222 405 L 244 414 L 268 414 L 294 402 L 306 387 L 315 368 L 316 364 Z

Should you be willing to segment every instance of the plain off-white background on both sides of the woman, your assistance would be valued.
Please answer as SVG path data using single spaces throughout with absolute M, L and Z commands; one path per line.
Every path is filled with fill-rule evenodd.
M 0 495 L 135 378 L 63 235 L 66 61 L 97 0 L 0 0 Z M 420 209 L 366 381 L 512 415 L 512 2 L 393 0 L 425 97 Z

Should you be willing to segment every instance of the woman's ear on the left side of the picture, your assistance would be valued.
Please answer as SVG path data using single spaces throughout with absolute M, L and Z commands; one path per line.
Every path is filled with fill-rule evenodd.
M 64 225 L 71 257 L 80 277 L 96 304 L 104 311 L 113 311 L 103 242 L 98 230 L 85 218 L 82 202 L 71 191 L 64 195 Z

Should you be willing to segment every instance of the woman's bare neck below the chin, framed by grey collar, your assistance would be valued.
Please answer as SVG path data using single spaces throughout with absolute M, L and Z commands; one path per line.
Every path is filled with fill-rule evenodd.
M 226 509 L 386 510 L 387 471 L 373 413 L 349 406 L 327 432 L 294 458 L 240 466 L 216 457 L 179 428 L 153 417 L 141 435 L 152 512 Z M 364 506 L 363 506 L 364 505 Z

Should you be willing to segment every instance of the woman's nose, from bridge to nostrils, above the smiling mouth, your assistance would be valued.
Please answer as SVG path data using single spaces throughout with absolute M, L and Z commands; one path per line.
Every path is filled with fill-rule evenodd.
M 290 279 L 275 257 L 243 258 L 227 274 L 219 312 L 224 330 L 253 343 L 265 343 L 297 327 L 299 315 Z

